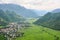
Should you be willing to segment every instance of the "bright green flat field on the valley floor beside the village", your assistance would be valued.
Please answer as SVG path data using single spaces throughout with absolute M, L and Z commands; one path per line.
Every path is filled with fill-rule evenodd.
M 42 26 L 32 25 L 23 31 L 24 36 L 18 37 L 16 40 L 60 40 L 60 31 Z

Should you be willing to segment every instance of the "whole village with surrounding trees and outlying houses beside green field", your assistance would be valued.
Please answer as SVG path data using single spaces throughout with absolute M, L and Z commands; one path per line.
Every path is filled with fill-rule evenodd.
M 15 39 L 16 37 L 22 37 L 24 35 L 24 32 L 20 32 L 22 28 L 25 28 L 25 26 L 28 26 L 29 23 L 9 23 L 7 27 L 0 28 L 0 34 L 4 34 L 4 36 L 7 38 L 7 40 Z

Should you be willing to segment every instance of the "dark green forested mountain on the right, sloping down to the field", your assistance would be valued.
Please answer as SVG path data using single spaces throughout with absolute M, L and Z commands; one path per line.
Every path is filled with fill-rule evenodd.
M 54 30 L 60 30 L 60 12 L 48 12 L 46 15 L 34 22 L 34 24 L 48 27 Z

